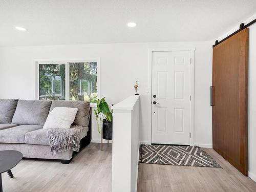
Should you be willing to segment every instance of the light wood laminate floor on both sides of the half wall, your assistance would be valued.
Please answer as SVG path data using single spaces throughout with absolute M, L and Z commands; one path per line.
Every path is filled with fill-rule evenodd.
M 256 183 L 243 176 L 212 149 L 207 151 L 222 168 L 172 165 L 139 165 L 138 191 L 256 191 Z M 3 176 L 5 192 L 111 191 L 112 150 L 91 143 L 70 164 L 24 159 L 12 169 L 14 178 Z

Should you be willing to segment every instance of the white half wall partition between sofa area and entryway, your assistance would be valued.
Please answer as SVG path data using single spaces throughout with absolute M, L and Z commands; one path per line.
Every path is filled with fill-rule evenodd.
M 112 106 L 112 192 L 137 191 L 139 100 L 133 95 Z

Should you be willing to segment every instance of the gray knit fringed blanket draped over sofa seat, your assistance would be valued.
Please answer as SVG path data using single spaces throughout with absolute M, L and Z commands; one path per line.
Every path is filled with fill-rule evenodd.
M 83 127 L 71 125 L 70 129 L 48 129 L 47 137 L 51 146 L 51 152 L 55 155 L 69 150 L 78 152 Z

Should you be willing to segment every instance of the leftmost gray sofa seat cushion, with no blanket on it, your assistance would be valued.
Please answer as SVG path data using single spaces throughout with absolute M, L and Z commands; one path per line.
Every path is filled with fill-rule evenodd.
M 0 143 L 24 143 L 28 132 L 41 129 L 42 125 L 19 125 L 0 131 Z

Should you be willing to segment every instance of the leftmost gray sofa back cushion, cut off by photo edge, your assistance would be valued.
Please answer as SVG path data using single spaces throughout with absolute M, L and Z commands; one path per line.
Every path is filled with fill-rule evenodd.
M 0 123 L 11 123 L 18 99 L 0 99 Z

